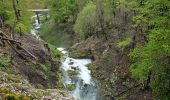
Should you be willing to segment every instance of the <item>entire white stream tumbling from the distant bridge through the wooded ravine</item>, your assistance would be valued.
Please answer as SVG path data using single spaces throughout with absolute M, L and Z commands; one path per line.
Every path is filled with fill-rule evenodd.
M 34 19 L 31 34 L 40 39 L 38 29 L 41 24 L 33 16 Z M 95 79 L 91 76 L 91 71 L 87 65 L 91 59 L 74 59 L 70 58 L 65 48 L 57 47 L 64 54 L 61 59 L 62 80 L 65 89 L 75 98 L 75 100 L 101 100 L 100 89 Z

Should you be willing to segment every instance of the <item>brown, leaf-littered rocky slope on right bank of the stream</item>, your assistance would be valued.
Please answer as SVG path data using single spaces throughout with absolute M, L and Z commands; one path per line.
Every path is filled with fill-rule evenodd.
M 137 43 L 144 42 L 144 37 L 136 36 L 137 31 L 131 27 L 132 16 L 132 12 L 118 9 L 112 26 L 105 28 L 108 40 L 102 35 L 99 38 L 92 36 L 70 48 L 70 56 L 94 60 L 89 68 L 101 83 L 106 100 L 150 100 L 152 97 L 150 90 L 143 89 L 129 72 L 131 60 L 128 54 Z

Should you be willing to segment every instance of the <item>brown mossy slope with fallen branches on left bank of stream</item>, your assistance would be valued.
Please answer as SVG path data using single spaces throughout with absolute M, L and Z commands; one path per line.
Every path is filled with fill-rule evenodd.
M 0 97 L 22 100 L 73 100 L 62 91 L 60 57 L 62 54 L 30 35 L 10 38 L 8 29 L 0 33 Z M 59 90 L 61 89 L 61 90 Z M 0 99 L 1 99 L 0 98 Z M 11 100 L 11 99 L 9 99 Z

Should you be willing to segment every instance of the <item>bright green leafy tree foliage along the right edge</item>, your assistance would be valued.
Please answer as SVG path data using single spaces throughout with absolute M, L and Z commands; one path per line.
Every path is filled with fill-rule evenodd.
M 146 0 L 142 5 L 136 7 L 139 15 L 135 17 L 138 28 L 152 26 L 148 30 L 148 42 L 137 46 L 130 57 L 134 63 L 131 66 L 132 75 L 140 82 L 148 79 L 150 74 L 154 98 L 158 100 L 169 100 L 170 83 L 170 20 L 168 0 Z

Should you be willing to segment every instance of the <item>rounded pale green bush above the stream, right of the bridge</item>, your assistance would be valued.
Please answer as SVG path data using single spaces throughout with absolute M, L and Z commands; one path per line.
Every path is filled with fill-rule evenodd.
M 78 14 L 74 25 L 74 31 L 79 39 L 86 39 L 96 31 L 96 5 L 92 2 L 86 4 L 83 10 Z

